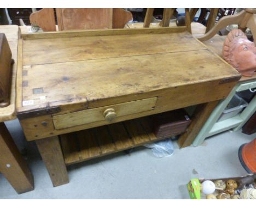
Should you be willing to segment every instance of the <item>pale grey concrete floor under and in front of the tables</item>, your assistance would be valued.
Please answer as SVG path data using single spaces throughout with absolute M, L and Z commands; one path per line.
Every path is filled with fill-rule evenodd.
M 178 149 L 156 158 L 152 150 L 137 148 L 130 155 L 119 152 L 68 167 L 69 183 L 53 187 L 36 145 L 22 137 L 17 120 L 7 123 L 19 149 L 27 149 L 34 175 L 34 191 L 16 194 L 0 174 L 1 199 L 187 199 L 190 178 L 224 178 L 246 175 L 237 151 L 256 138 L 238 132 L 220 133 L 202 146 Z

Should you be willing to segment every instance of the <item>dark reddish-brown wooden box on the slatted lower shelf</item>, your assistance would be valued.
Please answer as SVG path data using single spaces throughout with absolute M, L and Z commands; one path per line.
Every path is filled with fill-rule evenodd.
M 156 114 L 152 118 L 153 131 L 157 138 L 170 138 L 186 131 L 191 123 L 183 109 Z

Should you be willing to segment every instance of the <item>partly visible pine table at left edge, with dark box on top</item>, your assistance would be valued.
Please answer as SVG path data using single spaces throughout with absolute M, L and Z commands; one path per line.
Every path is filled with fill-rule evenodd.
M 10 105 L 0 107 L 0 172 L 9 181 L 16 192 L 24 193 L 34 189 L 33 175 L 4 124 L 4 121 L 16 119 L 15 81 L 19 27 L 15 25 L 1 25 L 0 33 L 4 33 L 7 37 L 12 58 L 14 59 L 14 64 L 11 69 L 13 71 L 11 77 Z

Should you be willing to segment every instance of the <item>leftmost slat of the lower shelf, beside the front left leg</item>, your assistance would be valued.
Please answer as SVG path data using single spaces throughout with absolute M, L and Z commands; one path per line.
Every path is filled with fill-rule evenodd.
M 63 152 L 66 164 L 74 163 L 75 161 L 82 160 L 80 155 L 79 143 L 76 133 L 66 133 L 60 136 L 61 149 Z

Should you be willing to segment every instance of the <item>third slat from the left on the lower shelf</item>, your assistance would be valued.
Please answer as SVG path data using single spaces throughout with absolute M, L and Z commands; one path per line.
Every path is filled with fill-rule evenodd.
M 94 129 L 94 135 L 100 145 L 102 154 L 108 154 L 116 150 L 107 126 L 100 126 L 97 129 Z

